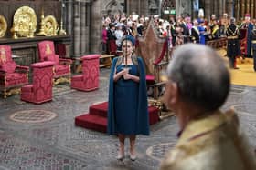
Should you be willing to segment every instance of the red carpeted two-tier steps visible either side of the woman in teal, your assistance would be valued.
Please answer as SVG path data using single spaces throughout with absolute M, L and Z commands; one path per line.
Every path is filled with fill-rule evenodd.
M 108 103 L 103 102 L 97 105 L 91 105 L 89 108 L 89 114 L 79 115 L 75 118 L 75 125 L 81 126 L 87 129 L 107 132 L 107 115 L 108 115 Z M 149 112 L 149 124 L 153 125 L 159 121 L 158 109 L 155 106 L 148 107 Z

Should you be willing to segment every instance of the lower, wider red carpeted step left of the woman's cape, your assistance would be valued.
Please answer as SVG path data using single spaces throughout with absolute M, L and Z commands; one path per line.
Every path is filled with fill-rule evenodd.
M 107 118 L 100 115 L 84 114 L 77 116 L 75 125 L 103 133 L 107 132 Z

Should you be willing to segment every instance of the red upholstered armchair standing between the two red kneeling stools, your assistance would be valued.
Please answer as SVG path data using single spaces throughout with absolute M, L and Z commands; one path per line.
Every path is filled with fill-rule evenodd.
M 69 82 L 72 60 L 67 58 L 59 58 L 55 53 L 54 43 L 52 41 L 42 41 L 38 43 L 39 59 L 41 62 L 52 61 L 54 65 L 54 85 Z

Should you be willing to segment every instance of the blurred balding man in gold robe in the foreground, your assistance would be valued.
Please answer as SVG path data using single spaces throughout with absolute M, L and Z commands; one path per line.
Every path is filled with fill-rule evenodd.
M 161 170 L 255 170 L 254 149 L 233 110 L 220 111 L 229 95 L 223 59 L 207 45 L 180 45 L 167 66 L 164 101 L 180 127 Z

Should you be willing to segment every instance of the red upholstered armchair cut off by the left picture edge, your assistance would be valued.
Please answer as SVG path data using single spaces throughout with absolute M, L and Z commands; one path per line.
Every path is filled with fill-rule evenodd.
M 20 87 L 28 83 L 28 71 L 28 66 L 16 65 L 11 46 L 0 45 L 0 89 L 4 98 L 18 94 Z

